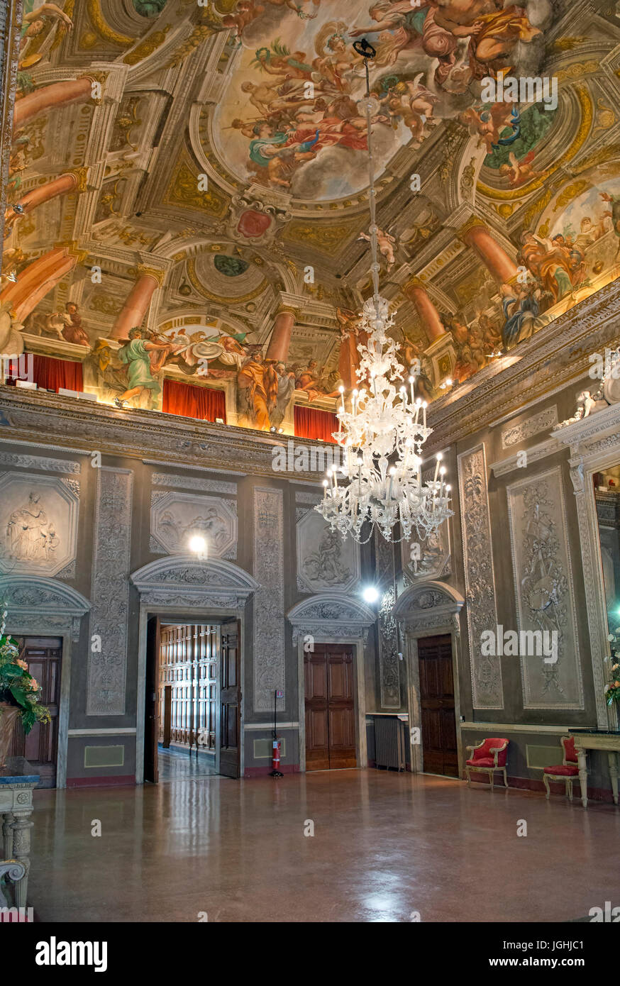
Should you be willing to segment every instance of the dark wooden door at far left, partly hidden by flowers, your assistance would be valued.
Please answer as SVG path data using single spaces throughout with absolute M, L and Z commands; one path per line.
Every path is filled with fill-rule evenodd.
M 56 787 L 58 756 L 58 707 L 60 705 L 60 668 L 62 640 L 59 637 L 16 637 L 20 658 L 41 686 L 40 703 L 49 709 L 51 722 L 34 723 L 28 736 L 21 721 L 15 729 L 10 756 L 25 756 L 40 774 L 41 788 Z

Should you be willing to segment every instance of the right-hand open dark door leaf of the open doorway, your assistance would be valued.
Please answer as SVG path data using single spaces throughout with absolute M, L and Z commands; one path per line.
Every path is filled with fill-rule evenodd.
M 241 775 L 241 623 L 222 624 L 220 671 L 220 773 Z

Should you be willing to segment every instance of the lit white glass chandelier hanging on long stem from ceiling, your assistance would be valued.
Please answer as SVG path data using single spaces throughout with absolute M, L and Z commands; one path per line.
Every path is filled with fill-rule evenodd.
M 410 540 L 415 531 L 422 540 L 452 516 L 449 486 L 441 454 L 436 458 L 435 475 L 422 481 L 422 447 L 433 429 L 426 423 L 426 401 L 416 397 L 415 376 L 406 387 L 403 368 L 396 359 L 399 346 L 387 335 L 393 324 L 387 301 L 379 295 L 378 227 L 376 222 L 375 167 L 371 148 L 371 117 L 379 103 L 370 95 L 369 59 L 375 49 L 365 39 L 354 45 L 366 59 L 366 98 L 358 104 L 366 114 L 369 146 L 370 244 L 373 262 L 374 294 L 363 307 L 359 327 L 368 333 L 357 371 L 359 388 L 354 389 L 351 410 L 344 405 L 344 387 L 337 411 L 338 432 L 333 438 L 343 449 L 344 465 L 327 472 L 323 480 L 323 499 L 314 508 L 332 530 L 366 543 L 379 528 L 387 541 Z M 412 371 L 413 373 L 413 371 Z M 340 480 L 339 480 L 340 474 Z M 365 522 L 368 536 L 363 537 Z M 400 525 L 401 536 L 393 529 Z M 364 533 L 369 528 L 364 528 Z

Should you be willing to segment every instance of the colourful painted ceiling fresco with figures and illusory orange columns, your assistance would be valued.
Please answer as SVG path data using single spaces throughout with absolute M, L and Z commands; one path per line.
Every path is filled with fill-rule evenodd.
M 381 291 L 424 396 L 618 276 L 611 0 L 26 0 L 0 332 L 108 403 L 161 408 L 169 377 L 233 424 L 334 409 L 370 290 L 360 37 Z

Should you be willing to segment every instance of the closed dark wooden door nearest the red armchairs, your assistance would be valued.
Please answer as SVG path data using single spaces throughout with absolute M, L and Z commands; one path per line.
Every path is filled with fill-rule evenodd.
M 449 634 L 418 640 L 424 770 L 458 776 L 452 643 Z

